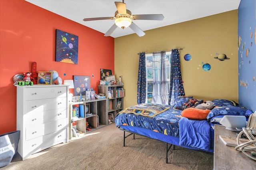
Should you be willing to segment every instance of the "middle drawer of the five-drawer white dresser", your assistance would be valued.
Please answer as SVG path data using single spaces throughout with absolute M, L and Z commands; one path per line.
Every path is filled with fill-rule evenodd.
M 35 126 L 49 121 L 67 118 L 67 108 L 39 111 L 24 115 L 24 126 Z

